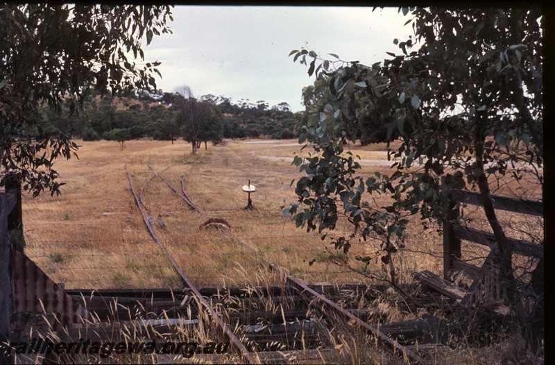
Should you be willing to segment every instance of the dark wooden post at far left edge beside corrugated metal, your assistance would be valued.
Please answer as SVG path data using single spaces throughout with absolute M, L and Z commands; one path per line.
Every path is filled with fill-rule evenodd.
M 10 347 L 10 317 L 12 314 L 12 286 L 10 273 L 10 242 L 8 241 L 8 215 L 16 203 L 12 190 L 0 193 L 0 364 L 12 364 Z

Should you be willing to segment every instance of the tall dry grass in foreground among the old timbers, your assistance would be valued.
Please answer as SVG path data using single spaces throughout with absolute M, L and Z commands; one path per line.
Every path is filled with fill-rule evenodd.
M 264 272 L 258 272 L 255 275 L 244 273 L 245 283 L 247 287 L 252 288 L 250 295 L 237 298 L 229 294 L 217 294 L 209 298 L 212 306 L 216 309 L 224 321 L 232 328 L 235 334 L 241 339 L 241 342 L 246 346 L 257 346 L 257 344 L 248 338 L 244 332 L 244 327 L 241 322 L 234 325 L 230 320 L 230 316 L 237 312 L 248 311 L 268 311 L 273 313 L 283 313 L 289 309 L 298 309 L 294 307 L 294 300 L 290 300 L 288 296 L 272 296 L 271 294 L 262 294 L 262 288 L 269 288 L 278 285 L 285 287 L 283 278 L 268 278 Z M 385 318 L 384 321 L 400 321 L 402 319 L 412 318 L 416 314 L 409 314 L 401 308 L 399 296 L 395 291 L 384 291 L 382 294 L 373 296 L 373 300 L 368 300 L 368 294 L 365 296 L 362 293 L 346 293 L 343 305 L 357 303 L 359 309 L 370 307 L 377 309 L 376 313 L 381 312 Z M 250 299 L 255 299 L 252 302 Z M 176 307 L 180 307 L 183 315 L 176 315 L 174 313 L 162 312 L 155 314 L 146 312 L 144 307 L 139 305 L 139 308 L 127 309 L 129 319 L 119 319 L 117 311 L 114 310 L 114 315 L 110 321 L 101 321 L 98 318 L 92 318 L 80 325 L 78 328 L 62 328 L 62 330 L 54 330 L 49 328 L 42 335 L 51 339 L 51 341 L 66 343 L 77 341 L 77 339 L 91 339 L 92 341 L 100 341 L 100 343 L 117 343 L 117 342 L 133 342 L 140 343 L 143 341 L 157 341 L 157 348 L 162 348 L 164 343 L 169 341 L 173 343 L 198 343 L 200 346 L 205 346 L 207 343 L 228 343 L 228 339 L 223 337 L 219 332 L 214 319 L 207 316 L 205 312 L 200 312 L 198 316 L 191 315 L 191 307 L 202 307 L 196 299 L 189 301 L 185 307 L 179 304 L 180 299 L 176 300 Z M 217 304 L 216 303 L 220 303 Z M 225 306 L 221 303 L 226 303 Z M 253 306 L 254 305 L 254 306 Z M 121 307 L 119 304 L 114 304 L 113 307 Z M 142 307 L 142 310 L 140 309 Z M 188 307 L 188 309 L 187 309 Z M 318 328 L 318 335 L 316 341 L 320 344 L 317 345 L 319 350 L 327 348 L 334 349 L 335 355 L 329 353 L 321 359 L 310 361 L 296 358 L 294 353 L 284 353 L 288 358 L 287 364 L 311 364 L 318 362 L 321 364 L 408 364 L 408 360 L 400 355 L 393 355 L 390 350 L 380 345 L 375 337 L 369 337 L 367 333 L 362 331 L 357 326 L 352 326 L 345 323 L 343 319 L 336 317 L 334 313 L 328 312 L 327 318 L 322 318 L 318 313 L 318 305 L 313 309 L 307 309 L 311 313 L 311 319 L 314 321 L 316 328 Z M 46 317 L 45 317 L 46 319 Z M 144 323 L 148 321 L 149 324 Z M 373 319 L 376 321 L 376 319 Z M 264 321 L 259 322 L 259 325 L 267 324 Z M 85 333 L 87 333 L 85 335 Z M 296 348 L 299 350 L 307 350 L 315 348 L 314 339 L 310 342 L 305 342 L 304 332 L 295 334 L 297 341 Z M 86 336 L 86 337 L 85 337 Z M 293 334 L 291 334 L 293 336 Z M 275 341 L 271 343 L 275 349 L 287 352 L 291 348 L 287 348 L 286 343 Z M 113 347 L 112 347 L 113 349 Z M 110 348 L 103 347 L 101 350 L 102 356 L 77 354 L 77 355 L 51 355 L 50 360 L 61 363 L 87 363 L 87 364 L 157 364 L 160 362 L 171 362 L 173 364 L 205 364 L 222 362 L 225 364 L 241 364 L 244 359 L 237 353 L 234 348 L 227 348 L 223 355 L 213 357 L 211 355 L 145 355 L 144 353 L 117 353 Z M 265 350 L 258 348 L 258 350 Z M 267 349 L 266 349 L 267 350 Z M 185 353 L 185 351 L 183 352 Z M 420 353 L 425 357 L 427 364 L 527 364 L 541 363 L 541 359 L 527 354 L 524 350 L 524 342 L 522 337 L 513 335 L 508 339 L 497 341 L 491 346 L 475 347 L 472 348 L 468 345 L 466 339 L 457 337 L 450 340 L 449 346 L 428 346 L 428 350 Z M 264 352 L 254 354 L 261 363 L 264 363 Z

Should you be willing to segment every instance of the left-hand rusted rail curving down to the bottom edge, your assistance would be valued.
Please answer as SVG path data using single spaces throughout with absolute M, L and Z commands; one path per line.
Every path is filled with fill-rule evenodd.
M 200 294 L 200 291 L 198 291 L 198 289 L 193 285 L 193 282 L 191 282 L 189 277 L 187 277 L 187 275 L 185 275 L 185 272 L 181 269 L 181 266 L 179 266 L 178 263 L 176 262 L 176 260 L 173 259 L 173 257 L 167 251 L 167 248 L 164 246 L 164 244 L 162 244 L 162 241 L 160 241 L 160 239 L 157 237 L 155 230 L 152 228 L 150 222 L 148 221 L 148 217 L 146 215 L 146 212 L 144 211 L 144 208 L 142 207 L 142 203 L 139 200 L 139 197 L 137 196 L 137 193 L 135 192 L 135 188 L 133 187 L 133 181 L 131 180 L 131 174 L 129 173 L 129 171 L 127 169 L 127 164 L 125 165 L 125 169 L 126 169 L 127 177 L 128 177 L 128 180 L 129 180 L 129 185 L 130 185 L 131 192 L 133 193 L 133 196 L 135 197 L 135 202 L 137 203 L 137 207 L 139 207 L 139 211 L 142 214 L 144 223 L 146 225 L 146 228 L 148 229 L 148 232 L 151 234 L 151 237 L 153 237 L 156 244 L 158 246 L 160 246 L 160 249 L 166 255 L 169 262 L 171 262 L 173 268 L 176 269 L 176 271 L 178 272 L 178 274 L 182 278 L 183 282 L 185 282 L 185 285 L 187 285 L 187 287 L 189 287 L 189 289 L 191 289 L 191 291 L 196 296 L 198 301 L 200 301 L 200 303 L 202 303 L 202 305 L 205 307 L 205 309 L 210 313 L 210 316 L 212 316 L 212 319 L 214 319 L 214 321 L 216 321 L 216 323 L 219 325 L 219 328 L 221 328 L 221 330 L 223 331 L 225 336 L 228 337 L 228 339 L 230 339 L 233 346 L 235 348 L 237 348 L 237 350 L 239 350 L 239 353 L 241 353 L 241 356 L 243 356 L 244 359 L 248 363 L 255 362 L 255 357 L 253 357 L 252 353 L 250 353 L 246 349 L 246 347 L 243 345 L 243 343 L 241 343 L 239 338 L 237 338 L 237 336 L 229 328 L 229 326 L 226 325 L 225 322 L 220 318 L 219 314 L 217 314 L 216 311 L 214 311 L 214 308 L 212 308 L 212 305 L 210 305 L 210 303 L 208 303 L 207 300 L 205 300 L 205 298 L 202 296 L 202 294 Z

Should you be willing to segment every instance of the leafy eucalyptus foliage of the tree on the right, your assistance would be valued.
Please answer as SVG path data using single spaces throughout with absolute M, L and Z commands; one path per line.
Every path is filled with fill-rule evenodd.
M 403 8 L 409 12 L 416 36 L 395 40 L 402 54 L 388 52 L 383 65 L 324 60 L 307 49 L 290 54 L 311 60 L 308 73 L 317 78 L 303 90 L 309 117 L 299 133 L 315 153 L 293 160 L 305 176 L 284 214 L 323 234 L 342 215 L 353 233 L 332 239 L 335 248 L 346 253 L 353 240 L 379 239 L 384 263 L 404 245 L 408 216 L 445 219 L 454 187 L 484 191 L 484 177 L 499 178 L 509 166 L 517 178 L 536 171 L 543 186 L 534 168 L 543 164 L 541 11 Z M 329 94 L 316 92 L 324 84 Z M 394 140 L 391 174 L 370 178 L 359 176 L 344 148 Z M 393 203 L 373 205 L 379 194 Z

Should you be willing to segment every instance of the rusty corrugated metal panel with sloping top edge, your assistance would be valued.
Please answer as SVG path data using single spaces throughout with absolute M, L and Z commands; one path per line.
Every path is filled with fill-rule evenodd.
M 11 250 L 13 312 L 60 313 L 62 325 L 82 323 L 89 312 L 24 253 Z M 41 305 L 42 303 L 42 305 Z M 44 309 L 43 309 L 44 306 Z

